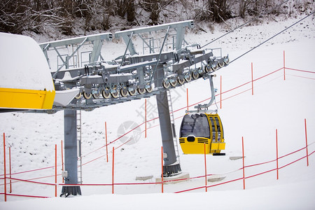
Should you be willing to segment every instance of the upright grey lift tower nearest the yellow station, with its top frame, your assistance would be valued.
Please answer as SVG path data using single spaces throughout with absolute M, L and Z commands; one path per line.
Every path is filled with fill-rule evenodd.
M 65 171 L 62 172 L 62 176 L 65 184 L 76 185 L 82 182 L 82 175 L 80 180 L 78 180 L 78 168 L 82 172 L 82 162 L 79 161 L 80 164 L 78 165 L 78 160 L 81 160 L 81 154 L 80 124 L 78 124 L 80 115 L 77 114 L 77 111 L 80 111 L 83 107 L 75 106 L 78 97 L 74 97 L 80 95 L 80 85 L 78 85 L 77 80 L 83 77 L 83 71 L 86 70 L 85 64 L 95 64 L 95 62 L 103 59 L 101 55 L 103 42 L 109 41 L 111 38 L 112 34 L 105 33 L 40 44 L 52 71 L 55 88 L 57 92 L 61 93 L 59 95 L 56 94 L 57 99 L 55 98 L 53 109 L 55 111 L 64 110 Z M 87 48 L 92 50 L 86 50 Z M 57 63 L 50 63 L 50 58 L 52 57 L 57 57 Z M 89 86 L 87 86 L 88 88 Z M 69 97 L 69 94 L 72 94 L 72 96 Z M 73 104 L 73 106 L 69 106 L 69 104 Z M 85 110 L 91 109 L 87 108 Z M 62 186 L 62 194 L 60 196 L 67 197 L 69 195 L 81 195 L 80 186 Z

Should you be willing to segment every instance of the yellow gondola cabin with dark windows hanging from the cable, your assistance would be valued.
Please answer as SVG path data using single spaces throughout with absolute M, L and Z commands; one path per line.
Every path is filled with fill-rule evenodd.
M 193 113 L 183 117 L 179 144 L 185 154 L 225 155 L 223 125 L 217 113 Z

